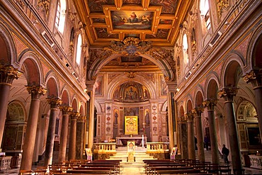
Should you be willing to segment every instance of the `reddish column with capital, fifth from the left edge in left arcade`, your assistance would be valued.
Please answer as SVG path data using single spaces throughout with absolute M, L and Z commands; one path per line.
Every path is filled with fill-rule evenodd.
M 79 113 L 71 113 L 70 123 L 70 137 L 69 137 L 69 154 L 68 159 L 76 159 L 76 118 L 79 117 Z

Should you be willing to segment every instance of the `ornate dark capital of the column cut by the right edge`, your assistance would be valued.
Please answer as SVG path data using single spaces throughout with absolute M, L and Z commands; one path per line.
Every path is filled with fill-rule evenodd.
M 262 87 L 262 69 L 251 70 L 242 77 L 246 83 L 251 82 L 254 88 Z

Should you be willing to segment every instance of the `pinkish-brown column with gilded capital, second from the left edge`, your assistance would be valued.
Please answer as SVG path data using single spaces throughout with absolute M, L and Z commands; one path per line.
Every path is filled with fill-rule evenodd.
M 38 128 L 38 115 L 40 107 L 40 96 L 46 93 L 46 89 L 42 86 L 26 86 L 31 94 L 31 103 L 28 113 L 28 123 L 25 130 L 25 140 L 23 145 L 23 155 L 21 162 L 21 170 L 31 170 L 33 152 L 35 147 L 35 136 Z

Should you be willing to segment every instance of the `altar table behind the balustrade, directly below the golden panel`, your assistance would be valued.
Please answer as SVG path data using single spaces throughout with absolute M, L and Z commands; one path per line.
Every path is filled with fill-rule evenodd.
M 117 145 L 124 145 L 124 146 L 127 146 L 127 141 L 135 141 L 135 145 L 139 146 L 141 145 L 142 146 L 142 135 L 138 135 L 138 136 L 132 136 L 130 137 L 130 135 L 123 135 L 123 136 L 120 136 L 120 137 L 115 137 L 115 140 L 116 140 L 116 144 Z M 144 145 L 147 143 L 147 137 L 145 136 L 144 137 Z

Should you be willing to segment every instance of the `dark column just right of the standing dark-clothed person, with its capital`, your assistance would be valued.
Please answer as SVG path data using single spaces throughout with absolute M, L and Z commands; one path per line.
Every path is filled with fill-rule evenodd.
M 241 164 L 241 152 L 239 147 L 239 137 L 237 134 L 237 120 L 234 113 L 234 96 L 237 95 L 237 88 L 224 88 L 218 95 L 220 98 L 224 98 L 224 108 L 226 111 L 225 115 L 227 118 L 228 134 L 229 134 L 229 145 L 230 152 L 232 156 L 232 166 L 234 174 L 241 174 L 242 164 Z

